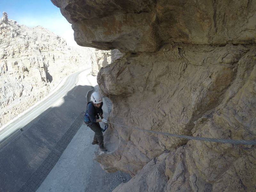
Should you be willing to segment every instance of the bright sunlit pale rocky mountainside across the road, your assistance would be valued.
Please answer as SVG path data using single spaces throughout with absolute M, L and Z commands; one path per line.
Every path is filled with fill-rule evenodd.
M 45 97 L 72 72 L 91 67 L 92 49 L 69 47 L 37 26 L 3 13 L 0 21 L 0 127 Z

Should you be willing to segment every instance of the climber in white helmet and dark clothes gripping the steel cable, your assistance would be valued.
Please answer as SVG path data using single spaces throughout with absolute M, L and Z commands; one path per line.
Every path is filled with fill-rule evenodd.
M 99 92 L 92 93 L 91 101 L 87 103 L 86 112 L 84 115 L 84 123 L 95 132 L 92 145 L 99 145 L 101 151 L 107 151 L 103 143 L 103 134 L 99 122 L 107 123 L 103 118 L 102 97 Z M 100 116 L 100 117 L 99 117 Z M 101 118 L 101 119 L 100 119 Z

